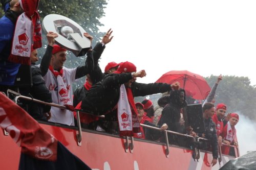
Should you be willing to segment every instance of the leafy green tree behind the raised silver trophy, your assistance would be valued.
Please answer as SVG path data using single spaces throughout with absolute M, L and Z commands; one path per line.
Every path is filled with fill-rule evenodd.
M 100 23 L 99 19 L 105 16 L 104 9 L 106 0 L 40 0 L 38 13 L 40 15 L 40 20 L 44 19 L 46 15 L 49 14 L 58 14 L 66 16 L 75 22 L 77 22 L 86 32 L 94 37 L 93 46 L 95 46 L 97 41 L 101 40 L 101 37 L 105 33 L 99 32 L 100 26 L 104 26 Z M 0 4 L 0 7 L 1 4 Z M 0 17 L 4 15 L 4 11 L 2 8 L 0 9 Z M 46 38 L 46 34 L 42 31 L 42 48 L 37 50 L 37 56 L 39 61 L 37 64 L 41 62 L 42 56 L 46 51 L 48 41 Z M 86 61 L 85 57 L 75 57 L 73 53 L 67 53 L 67 61 L 65 62 L 65 67 L 75 68 L 79 65 L 83 65 Z M 79 82 L 73 84 L 73 92 L 76 88 L 82 86 L 84 84 L 84 79 L 81 78 Z

